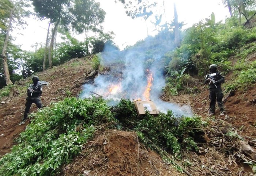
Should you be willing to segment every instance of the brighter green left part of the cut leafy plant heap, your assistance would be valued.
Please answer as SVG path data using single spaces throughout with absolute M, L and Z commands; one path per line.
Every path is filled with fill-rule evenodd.
M 31 116 L 18 145 L 0 159 L 1 175 L 54 175 L 79 154 L 97 124 L 114 120 L 102 99 L 67 98 Z

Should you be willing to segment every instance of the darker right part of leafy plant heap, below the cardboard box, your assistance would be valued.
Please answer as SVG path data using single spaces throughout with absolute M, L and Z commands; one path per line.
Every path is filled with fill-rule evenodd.
M 134 103 L 125 99 L 113 111 L 126 130 L 137 131 L 144 144 L 154 148 L 152 141 L 173 154 L 180 154 L 181 148 L 197 151 L 195 141 L 200 140 L 202 127 L 207 125 L 199 116 L 176 117 L 172 111 L 167 114 L 160 112 L 157 116 L 147 112 L 145 116 L 138 117 Z

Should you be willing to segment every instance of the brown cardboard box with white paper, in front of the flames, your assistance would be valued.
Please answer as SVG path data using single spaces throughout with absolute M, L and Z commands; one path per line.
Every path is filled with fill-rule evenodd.
M 150 114 L 159 114 L 157 107 L 152 101 L 135 101 L 135 107 L 137 109 L 138 115 L 143 115 L 145 113 L 145 108 L 149 111 Z

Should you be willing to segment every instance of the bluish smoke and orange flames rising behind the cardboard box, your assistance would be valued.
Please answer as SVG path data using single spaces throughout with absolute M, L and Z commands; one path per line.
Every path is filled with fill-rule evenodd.
M 112 105 L 121 98 L 154 101 L 158 107 L 154 112 L 172 110 L 177 115 L 192 116 L 189 107 L 159 99 L 162 88 L 165 86 L 163 66 L 159 61 L 162 57 L 161 53 L 151 53 L 151 58 L 148 58 L 144 50 L 131 49 L 124 53 L 120 52 L 116 56 L 113 56 L 113 53 L 107 49 L 101 53 L 104 62 L 102 65 L 109 66 L 109 71 L 98 74 L 94 80 L 89 81 L 91 84 L 85 84 L 81 98 L 89 98 L 90 92 L 96 92 L 104 99 L 111 100 Z M 122 58 L 121 62 L 120 58 Z M 148 104 L 150 103 L 144 103 L 143 107 L 153 108 Z

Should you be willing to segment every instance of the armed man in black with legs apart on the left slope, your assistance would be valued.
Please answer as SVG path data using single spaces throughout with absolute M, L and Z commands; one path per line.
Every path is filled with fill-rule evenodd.
M 23 125 L 26 123 L 27 116 L 30 111 L 30 107 L 32 103 L 35 103 L 37 105 L 37 108 L 42 108 L 42 102 L 40 99 L 40 96 L 42 94 L 42 85 L 39 82 L 39 77 L 33 76 L 32 78 L 33 84 L 29 85 L 29 88 L 27 89 L 27 97 L 26 97 L 26 104 L 25 104 L 25 112 L 23 116 L 22 122 L 19 123 L 19 125 Z

